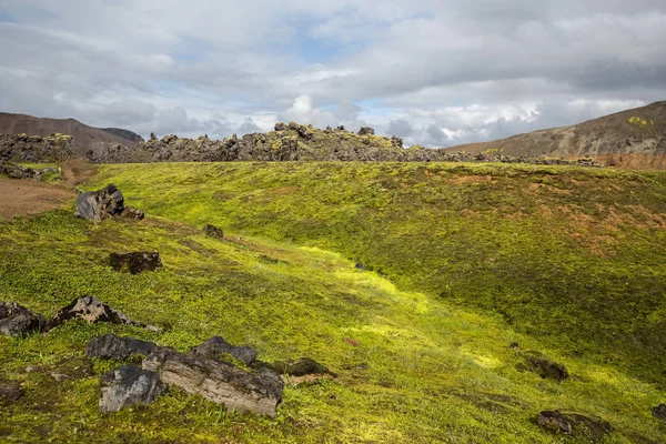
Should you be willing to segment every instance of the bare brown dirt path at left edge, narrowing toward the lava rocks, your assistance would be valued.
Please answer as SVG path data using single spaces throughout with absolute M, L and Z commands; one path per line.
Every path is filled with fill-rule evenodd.
M 94 165 L 82 162 L 65 163 L 61 168 L 64 181 L 60 183 L 0 179 L 0 220 L 61 208 L 77 196 L 75 186 L 97 172 Z

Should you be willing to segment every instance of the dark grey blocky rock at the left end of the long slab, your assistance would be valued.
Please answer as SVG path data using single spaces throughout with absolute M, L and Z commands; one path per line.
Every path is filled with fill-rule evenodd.
M 111 370 L 100 379 L 100 413 L 118 412 L 137 404 L 150 404 L 164 393 L 160 375 L 134 365 Z

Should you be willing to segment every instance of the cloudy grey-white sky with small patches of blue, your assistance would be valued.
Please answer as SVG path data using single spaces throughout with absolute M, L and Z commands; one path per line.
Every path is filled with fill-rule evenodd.
M 666 99 L 665 0 L 0 0 L 0 111 L 450 147 Z

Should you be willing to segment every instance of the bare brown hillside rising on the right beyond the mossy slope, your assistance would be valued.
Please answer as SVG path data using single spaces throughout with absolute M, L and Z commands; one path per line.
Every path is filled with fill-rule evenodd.
M 541 130 L 492 142 L 452 147 L 451 151 L 497 150 L 506 155 L 582 157 L 666 155 L 666 101 L 617 112 L 573 127 Z M 662 158 L 663 159 L 663 158 Z

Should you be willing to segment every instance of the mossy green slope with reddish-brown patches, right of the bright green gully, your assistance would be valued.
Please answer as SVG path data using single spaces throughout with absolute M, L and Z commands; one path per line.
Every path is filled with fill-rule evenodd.
M 664 384 L 666 174 L 483 164 L 107 167 L 149 213 L 336 251 Z

